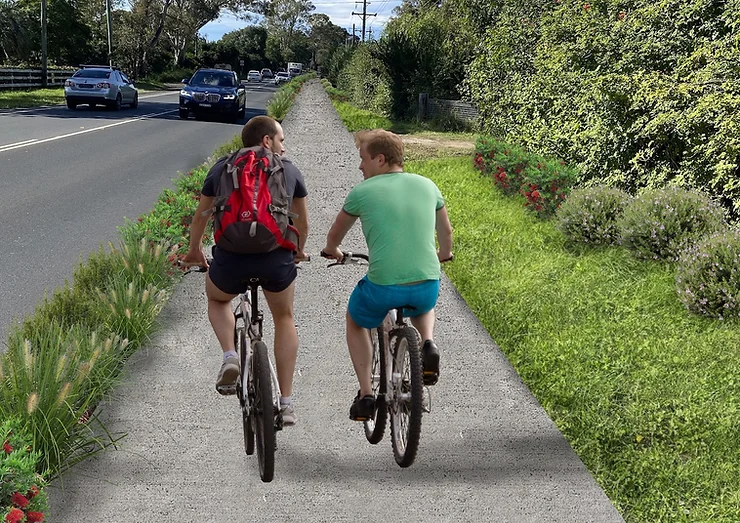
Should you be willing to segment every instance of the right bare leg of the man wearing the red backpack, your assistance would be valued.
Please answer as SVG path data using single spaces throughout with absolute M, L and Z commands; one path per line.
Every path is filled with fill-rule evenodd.
M 293 394 L 293 373 L 298 358 L 298 333 L 293 319 L 295 282 L 281 292 L 262 290 L 275 323 L 275 367 L 280 384 L 280 394 Z

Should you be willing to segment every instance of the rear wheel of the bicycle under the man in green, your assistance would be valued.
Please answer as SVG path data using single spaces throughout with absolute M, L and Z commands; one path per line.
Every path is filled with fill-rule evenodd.
M 396 463 L 409 467 L 416 459 L 421 438 L 424 401 L 424 373 L 416 331 L 401 327 L 390 335 L 393 374 L 401 375 L 394 390 L 391 410 L 391 445 Z

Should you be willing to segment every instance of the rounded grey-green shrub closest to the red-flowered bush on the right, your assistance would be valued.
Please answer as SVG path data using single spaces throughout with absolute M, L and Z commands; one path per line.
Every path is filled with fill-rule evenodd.
M 619 189 L 597 186 L 576 189 L 557 210 L 557 224 L 574 242 L 611 245 L 619 242 L 616 221 L 629 195 Z

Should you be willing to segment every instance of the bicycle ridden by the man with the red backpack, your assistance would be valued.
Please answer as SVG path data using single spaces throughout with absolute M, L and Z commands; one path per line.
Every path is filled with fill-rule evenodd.
M 205 267 L 194 266 L 185 274 L 206 270 Z M 219 392 L 236 394 L 239 399 L 244 450 L 251 456 L 256 447 L 260 478 L 269 483 L 275 474 L 276 432 L 283 429 L 283 415 L 275 365 L 262 340 L 263 315 L 257 306 L 260 285 L 258 278 L 251 278 L 247 291 L 239 295 L 234 308 L 234 346 L 239 355 L 241 373 L 233 386 L 221 388 Z

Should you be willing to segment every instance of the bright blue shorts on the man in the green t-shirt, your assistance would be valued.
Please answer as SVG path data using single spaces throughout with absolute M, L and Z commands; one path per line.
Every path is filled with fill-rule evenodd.
M 419 316 L 437 304 L 439 280 L 427 280 L 414 285 L 376 285 L 365 276 L 349 297 L 347 310 L 357 325 L 374 329 L 383 323 L 388 311 L 404 308 L 404 316 Z

